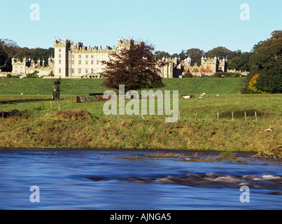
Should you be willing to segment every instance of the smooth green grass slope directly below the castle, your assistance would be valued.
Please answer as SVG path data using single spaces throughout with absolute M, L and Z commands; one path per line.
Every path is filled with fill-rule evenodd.
M 237 94 L 246 78 L 171 78 L 164 79 L 161 90 L 178 90 L 179 94 Z M 50 94 L 55 79 L 1 78 L 0 94 Z M 62 79 L 62 95 L 103 93 L 102 79 Z

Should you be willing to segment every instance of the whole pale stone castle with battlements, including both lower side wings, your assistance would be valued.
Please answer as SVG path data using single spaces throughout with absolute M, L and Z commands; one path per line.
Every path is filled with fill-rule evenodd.
M 72 42 L 67 39 L 54 40 L 55 55 L 49 57 L 48 66 L 45 61 L 38 59 L 24 58 L 22 62 L 19 59 L 12 59 L 13 74 L 26 76 L 28 73 L 38 71 L 38 76 L 47 78 L 102 78 L 102 73 L 105 69 L 101 61 L 107 61 L 110 53 L 118 52 L 122 48 L 130 48 L 132 45 L 141 44 L 141 41 L 136 42 L 133 39 L 118 39 L 118 47 L 111 48 L 106 46 L 102 49 L 94 46 L 88 48 L 82 42 Z M 165 62 L 164 66 L 160 67 L 160 76 L 162 78 L 179 78 L 183 73 L 190 72 L 194 76 L 201 76 L 203 73 L 212 75 L 218 71 L 227 71 L 227 59 L 219 57 L 206 58 L 202 57 L 201 65 L 191 64 L 191 58 L 181 60 L 179 57 L 162 58 Z

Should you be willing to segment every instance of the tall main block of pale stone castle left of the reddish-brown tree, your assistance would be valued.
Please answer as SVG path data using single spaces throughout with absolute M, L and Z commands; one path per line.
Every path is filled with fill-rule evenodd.
M 140 44 L 132 39 L 118 39 L 118 48 L 88 48 L 81 42 L 55 40 L 55 76 L 62 78 L 101 78 L 105 69 L 102 61 L 108 61 L 110 53 Z

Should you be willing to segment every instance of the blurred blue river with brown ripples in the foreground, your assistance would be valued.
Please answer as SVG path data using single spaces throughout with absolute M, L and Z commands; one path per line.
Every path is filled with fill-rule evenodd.
M 281 164 L 143 157 L 147 153 L 0 150 L 0 209 L 282 209 Z M 33 193 L 39 202 L 31 202 Z M 241 202 L 246 193 L 249 202 Z

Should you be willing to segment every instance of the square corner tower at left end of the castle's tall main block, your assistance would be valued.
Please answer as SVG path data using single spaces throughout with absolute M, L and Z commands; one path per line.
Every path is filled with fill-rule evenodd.
M 69 77 L 69 49 L 71 41 L 54 40 L 55 48 L 55 77 Z

